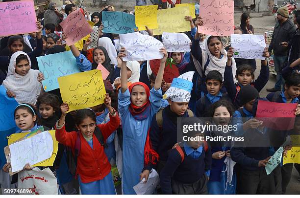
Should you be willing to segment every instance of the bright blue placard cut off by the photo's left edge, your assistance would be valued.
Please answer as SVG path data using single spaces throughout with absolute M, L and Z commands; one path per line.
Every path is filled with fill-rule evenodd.
M 28 85 L 29 86 L 29 85 Z M 16 127 L 14 111 L 18 106 L 15 98 L 9 98 L 6 94 L 6 88 L 0 86 L 0 132 Z

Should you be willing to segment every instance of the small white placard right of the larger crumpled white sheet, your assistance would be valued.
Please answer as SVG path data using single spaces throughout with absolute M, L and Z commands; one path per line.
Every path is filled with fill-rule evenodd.
M 189 37 L 184 33 L 168 33 L 163 32 L 163 44 L 169 52 L 190 52 L 190 43 L 192 42 Z

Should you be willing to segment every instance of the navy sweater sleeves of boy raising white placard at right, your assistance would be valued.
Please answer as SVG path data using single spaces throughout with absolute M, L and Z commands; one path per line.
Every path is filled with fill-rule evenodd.
M 269 80 L 269 66 L 261 66 L 260 69 L 260 74 L 258 78 L 253 82 L 254 88 L 257 89 L 258 92 L 261 91 L 262 88 L 265 87 Z M 236 84 L 233 82 L 233 77 L 232 77 L 232 71 L 231 71 L 231 66 L 225 66 L 225 72 L 224 72 L 224 86 L 227 89 L 228 95 L 231 98 L 232 102 L 234 103 L 234 106 L 236 108 L 241 107 L 240 103 L 240 94 L 239 92 L 237 93 L 236 90 Z

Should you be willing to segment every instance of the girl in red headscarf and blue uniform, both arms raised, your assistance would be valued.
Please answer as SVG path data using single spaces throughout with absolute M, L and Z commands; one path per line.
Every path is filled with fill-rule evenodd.
M 140 173 L 144 168 L 144 147 L 150 128 L 152 116 L 160 109 L 162 99 L 161 82 L 164 66 L 168 57 L 164 48 L 158 76 L 154 87 L 141 82 L 133 83 L 127 88 L 126 62 L 121 67 L 121 91 L 118 96 L 118 109 L 122 117 L 123 129 L 123 174 L 122 189 L 124 194 L 136 194 L 133 186 L 140 182 Z M 119 57 L 125 56 L 125 48 L 121 48 Z

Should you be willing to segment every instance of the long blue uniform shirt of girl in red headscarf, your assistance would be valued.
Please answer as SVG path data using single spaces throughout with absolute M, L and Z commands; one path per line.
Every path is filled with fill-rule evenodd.
M 140 182 L 144 168 L 144 147 L 153 115 L 160 109 L 161 88 L 150 90 L 150 115 L 144 120 L 136 120 L 129 111 L 130 93 L 119 91 L 118 110 L 122 117 L 123 129 L 123 174 L 122 187 L 124 194 L 136 194 L 133 186 Z

